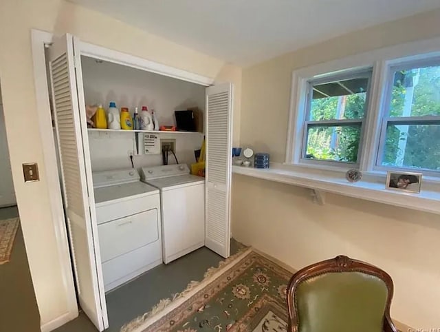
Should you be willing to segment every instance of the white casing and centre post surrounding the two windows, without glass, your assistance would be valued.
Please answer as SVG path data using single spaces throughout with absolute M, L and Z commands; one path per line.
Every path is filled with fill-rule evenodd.
M 424 59 L 433 59 L 440 56 L 440 39 L 428 39 L 389 48 L 382 48 L 371 52 L 356 54 L 344 59 L 338 59 L 327 63 L 320 63 L 308 68 L 294 70 L 292 72 L 292 92 L 289 110 L 289 123 L 287 128 L 287 144 L 285 154 L 285 165 L 293 168 L 307 167 L 325 169 L 335 172 L 346 172 L 349 168 L 358 168 L 364 174 L 384 176 L 386 171 L 397 169 L 402 172 L 414 169 L 404 169 L 401 167 L 385 167 L 377 165 L 377 157 L 380 153 L 380 134 L 383 125 L 384 109 L 387 105 L 388 94 L 384 93 L 388 88 L 391 68 L 418 61 L 422 63 Z M 336 76 L 353 71 L 367 70 L 373 68 L 371 76 L 371 88 L 369 100 L 367 101 L 368 110 L 364 118 L 364 137 L 362 147 L 360 147 L 359 165 L 353 163 L 335 162 L 326 163 L 325 160 L 314 160 L 316 163 L 305 163 L 302 156 L 304 123 L 306 116 L 307 87 L 308 82 L 320 78 Z M 419 171 L 417 171 L 419 172 Z M 424 175 L 432 176 L 437 180 L 439 172 L 421 171 Z

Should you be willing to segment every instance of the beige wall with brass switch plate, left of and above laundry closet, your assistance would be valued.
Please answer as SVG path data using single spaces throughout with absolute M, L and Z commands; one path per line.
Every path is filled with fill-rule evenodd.
M 59 220 L 52 220 L 50 213 L 48 174 L 45 174 L 36 113 L 30 43 L 32 28 L 57 35 L 70 32 L 96 45 L 203 76 L 217 79 L 221 74 L 221 80 L 238 79 L 239 88 L 241 70 L 62 0 L 0 2 L 0 82 L 12 175 L 41 323 L 45 324 L 67 312 L 67 295 L 54 233 L 54 222 Z M 236 111 L 239 117 L 239 110 Z M 47 123 L 47 130 L 50 130 L 50 123 Z M 25 184 L 21 163 L 33 161 L 39 163 L 41 181 Z

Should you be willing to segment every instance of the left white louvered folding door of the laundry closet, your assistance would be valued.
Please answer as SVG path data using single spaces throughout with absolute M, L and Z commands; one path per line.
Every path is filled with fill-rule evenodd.
M 74 56 L 74 39 L 69 34 L 56 39 L 50 47 L 52 103 L 78 300 L 91 322 L 103 331 L 109 322 L 96 214 L 94 203 L 89 203 L 94 201 L 94 196 L 88 141 L 83 141 L 88 139 L 87 125 L 79 107 L 83 102 L 80 56 L 77 55 L 76 61 Z

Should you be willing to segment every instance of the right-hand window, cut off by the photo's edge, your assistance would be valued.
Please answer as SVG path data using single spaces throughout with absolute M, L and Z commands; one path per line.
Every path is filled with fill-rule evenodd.
M 377 164 L 440 171 L 440 59 L 390 68 Z

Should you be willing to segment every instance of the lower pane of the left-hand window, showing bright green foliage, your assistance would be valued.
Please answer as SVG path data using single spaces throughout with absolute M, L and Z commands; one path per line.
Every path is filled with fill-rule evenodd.
M 309 127 L 305 158 L 357 163 L 360 129 L 361 124 Z

